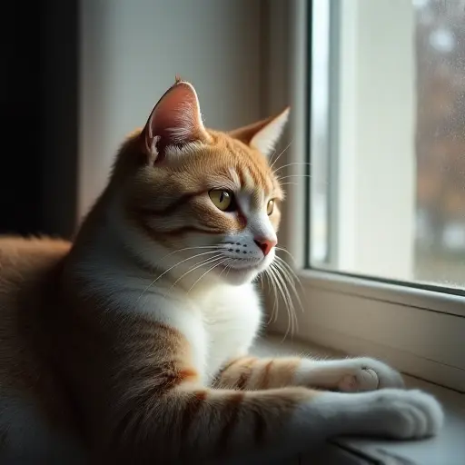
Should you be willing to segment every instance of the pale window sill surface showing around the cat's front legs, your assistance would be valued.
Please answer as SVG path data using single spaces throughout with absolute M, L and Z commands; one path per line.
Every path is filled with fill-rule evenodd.
M 258 341 L 253 353 L 259 356 L 311 353 L 317 357 L 337 357 L 341 352 L 326 350 L 295 341 L 282 341 L 282 336 L 269 335 Z M 343 356 L 345 354 L 342 354 Z M 385 464 L 385 465 L 461 465 L 465 463 L 465 394 L 442 388 L 404 375 L 408 388 L 429 391 L 443 404 L 446 422 L 440 435 L 430 440 L 391 441 L 357 438 L 335 438 L 326 450 L 302 454 L 295 463 Z M 292 463 L 287 461 L 286 463 Z

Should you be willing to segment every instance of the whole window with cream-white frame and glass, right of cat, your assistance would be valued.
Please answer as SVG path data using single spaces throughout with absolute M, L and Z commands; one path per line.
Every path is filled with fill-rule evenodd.
M 276 70 L 291 56 L 294 333 L 465 391 L 465 3 L 292 5 L 273 56 Z M 273 324 L 295 326 L 284 311 Z

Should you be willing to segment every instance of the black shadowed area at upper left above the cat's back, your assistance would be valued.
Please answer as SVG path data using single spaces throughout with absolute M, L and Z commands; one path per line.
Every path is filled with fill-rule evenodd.
M 0 233 L 73 233 L 77 12 L 76 0 L 4 5 Z

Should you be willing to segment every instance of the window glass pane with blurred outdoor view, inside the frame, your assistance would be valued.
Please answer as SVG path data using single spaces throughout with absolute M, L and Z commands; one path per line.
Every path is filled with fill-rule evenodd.
M 312 76 L 312 266 L 465 288 L 464 1 L 314 0 Z

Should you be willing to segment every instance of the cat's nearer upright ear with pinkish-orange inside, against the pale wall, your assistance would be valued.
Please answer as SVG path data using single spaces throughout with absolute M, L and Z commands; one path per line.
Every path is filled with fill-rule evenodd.
M 182 148 L 187 143 L 208 142 L 210 135 L 203 126 L 199 99 L 192 84 L 176 78 L 154 106 L 141 137 L 148 163 L 154 163 L 170 145 Z

